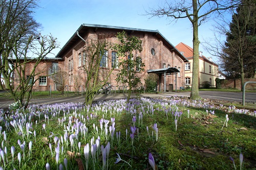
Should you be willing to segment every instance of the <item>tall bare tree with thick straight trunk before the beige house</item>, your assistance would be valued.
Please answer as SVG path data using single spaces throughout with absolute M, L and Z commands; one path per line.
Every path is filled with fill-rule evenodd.
M 151 9 L 147 14 L 151 16 L 171 18 L 170 21 L 188 18 L 193 27 L 193 76 L 192 76 L 192 88 L 190 99 L 200 99 L 199 95 L 199 38 L 198 28 L 206 22 L 211 16 L 215 14 L 220 15 L 221 12 L 225 12 L 227 9 L 237 7 L 240 1 L 234 0 L 177 0 L 177 1 L 165 1 L 163 7 Z

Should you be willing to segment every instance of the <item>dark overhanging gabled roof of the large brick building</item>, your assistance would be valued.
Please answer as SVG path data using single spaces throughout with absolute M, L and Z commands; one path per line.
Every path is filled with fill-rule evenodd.
M 83 23 L 78 28 L 78 30 L 73 34 L 73 36 L 68 40 L 68 42 L 61 48 L 61 50 L 56 55 L 56 57 L 63 58 L 64 57 L 63 55 L 65 55 L 75 43 L 77 43 L 78 41 L 81 40 L 78 37 L 77 32 L 79 33 L 79 35 L 81 37 L 83 37 L 84 34 L 86 33 L 86 31 L 88 29 L 91 29 L 91 28 L 93 28 L 95 31 L 97 31 L 97 29 L 99 29 L 99 28 L 103 28 L 103 29 L 118 30 L 120 32 L 121 31 L 126 31 L 127 33 L 133 33 L 133 32 L 152 33 L 152 34 L 154 34 L 154 36 L 156 36 L 157 38 L 161 39 L 163 41 L 163 43 L 170 50 L 175 51 L 184 62 L 188 62 L 188 60 L 177 50 L 177 48 L 172 43 L 170 43 L 158 30 L 144 30 L 144 29 L 126 28 L 126 27 L 115 27 L 115 26 L 105 26 L 105 25 L 92 25 L 92 24 L 86 24 L 86 23 Z

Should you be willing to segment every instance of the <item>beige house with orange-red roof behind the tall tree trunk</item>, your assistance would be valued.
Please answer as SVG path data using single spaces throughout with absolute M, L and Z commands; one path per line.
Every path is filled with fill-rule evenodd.
M 177 50 L 185 56 L 189 62 L 185 63 L 185 87 L 191 87 L 193 72 L 193 48 L 180 42 L 176 45 Z M 215 79 L 219 76 L 219 66 L 212 62 L 212 59 L 206 58 L 199 52 L 199 87 L 208 81 L 210 87 L 216 87 Z

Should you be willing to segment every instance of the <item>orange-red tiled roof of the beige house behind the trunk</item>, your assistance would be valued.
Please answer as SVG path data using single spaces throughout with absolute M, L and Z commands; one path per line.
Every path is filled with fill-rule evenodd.
M 190 46 L 184 44 L 183 42 L 180 42 L 178 45 L 175 46 L 177 48 L 177 50 L 179 50 L 183 56 L 185 56 L 188 59 L 193 59 L 193 48 L 191 48 Z M 199 58 L 206 60 L 208 63 L 211 63 L 213 65 L 218 66 L 216 63 L 210 61 L 209 59 L 207 59 L 205 56 L 199 56 Z

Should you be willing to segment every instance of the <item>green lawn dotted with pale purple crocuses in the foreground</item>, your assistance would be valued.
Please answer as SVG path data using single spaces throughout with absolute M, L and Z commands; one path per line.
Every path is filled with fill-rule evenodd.
M 242 169 L 256 169 L 255 114 L 174 96 L 2 110 L 0 166 L 234 169 L 242 154 Z

